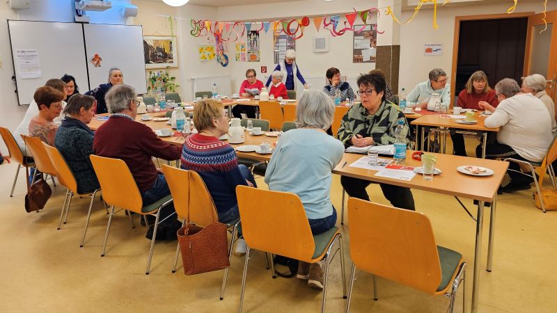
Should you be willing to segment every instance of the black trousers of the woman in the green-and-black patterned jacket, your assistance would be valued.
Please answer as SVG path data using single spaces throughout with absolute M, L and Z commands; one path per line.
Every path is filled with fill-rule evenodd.
M 350 195 L 350 197 L 359 198 L 362 200 L 369 201 L 370 197 L 366 192 L 366 187 L 369 186 L 372 182 L 368 180 L 352 178 L 347 176 L 340 177 L 340 184 L 343 185 L 346 193 Z M 414 197 L 412 196 L 412 192 L 410 188 L 400 187 L 400 186 L 393 186 L 389 184 L 379 184 L 381 190 L 383 191 L 383 195 L 393 207 L 398 207 L 400 209 L 408 209 L 414 211 L 416 207 L 414 206 Z

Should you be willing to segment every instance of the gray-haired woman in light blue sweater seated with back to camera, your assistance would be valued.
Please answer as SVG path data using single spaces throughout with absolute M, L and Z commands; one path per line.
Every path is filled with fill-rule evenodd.
M 331 170 L 343 158 L 344 145 L 325 132 L 333 122 L 335 106 L 320 90 L 308 90 L 296 108 L 297 129 L 281 136 L 265 172 L 270 190 L 295 193 L 301 199 L 313 234 L 336 224 L 331 204 Z M 288 218 L 288 216 L 286 217 Z M 320 264 L 299 262 L 297 277 L 310 287 L 322 288 Z

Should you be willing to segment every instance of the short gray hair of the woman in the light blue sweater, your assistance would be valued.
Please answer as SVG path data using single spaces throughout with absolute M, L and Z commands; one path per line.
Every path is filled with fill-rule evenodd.
M 322 90 L 304 90 L 296 106 L 296 126 L 328 129 L 333 124 L 335 105 Z

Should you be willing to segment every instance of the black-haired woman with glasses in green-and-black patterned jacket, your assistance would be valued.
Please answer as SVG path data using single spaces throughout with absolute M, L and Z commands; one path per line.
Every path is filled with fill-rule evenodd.
M 410 143 L 409 127 L 405 115 L 398 106 L 385 101 L 385 81 L 377 75 L 365 74 L 358 78 L 357 91 L 361 104 L 350 107 L 338 129 L 338 139 L 345 147 L 355 145 L 366 147 L 369 145 L 392 145 L 395 143 L 395 129 L 398 120 L 405 121 L 403 134 L 405 143 Z M 370 200 L 366 187 L 371 182 L 363 179 L 343 176 L 340 184 L 350 197 Z M 385 198 L 394 207 L 414 210 L 414 198 L 410 188 L 379 184 Z

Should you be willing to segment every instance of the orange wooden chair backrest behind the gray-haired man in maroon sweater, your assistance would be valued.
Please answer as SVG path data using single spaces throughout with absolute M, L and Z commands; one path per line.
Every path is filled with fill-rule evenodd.
M 102 199 L 108 205 L 141 213 L 143 200 L 130 168 L 121 159 L 89 156 L 102 189 Z

